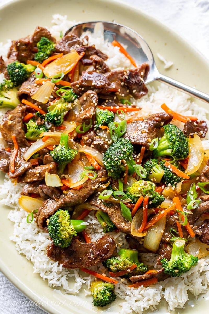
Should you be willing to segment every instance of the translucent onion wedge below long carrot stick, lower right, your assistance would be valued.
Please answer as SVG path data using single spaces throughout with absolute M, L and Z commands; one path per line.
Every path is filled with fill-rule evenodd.
M 157 252 L 162 239 L 166 223 L 166 215 L 159 219 L 153 226 L 149 227 L 144 237 L 144 247 L 151 252 Z

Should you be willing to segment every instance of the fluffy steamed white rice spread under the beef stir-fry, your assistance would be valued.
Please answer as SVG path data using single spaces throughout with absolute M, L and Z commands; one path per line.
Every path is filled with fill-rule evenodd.
M 68 21 L 67 16 L 60 16 L 59 14 L 53 16 L 53 22 L 55 25 L 50 31 L 57 39 L 59 39 L 61 31 L 64 33 L 75 24 L 75 21 Z M 131 67 L 129 60 L 119 52 L 117 47 L 105 43 L 102 33 L 99 32 L 100 30 L 97 29 L 97 32 L 94 34 L 88 34 L 89 43 L 95 44 L 96 48 L 111 56 L 107 60 L 108 66 L 111 69 Z M 98 34 L 100 35 L 98 36 Z M 8 41 L 6 45 L 0 44 L 0 55 L 3 55 L 4 58 L 10 44 L 11 41 Z M 1 79 L 3 79 L 2 76 L 0 76 L 0 81 Z M 174 111 L 188 116 L 195 115 L 199 120 L 205 120 L 209 125 L 209 121 L 206 118 L 207 112 L 203 108 L 198 107 L 195 102 L 191 102 L 188 95 L 163 84 L 158 85 L 157 88 L 149 87 L 148 95 L 143 97 L 142 100 L 135 102 L 142 108 L 142 115 L 160 112 L 160 106 L 165 102 Z M 3 112 L 0 113 L 0 118 L 2 116 Z M 183 123 L 179 122 L 178 126 L 182 129 Z M 202 143 L 204 149 L 209 148 L 208 134 Z M 18 253 L 24 254 L 34 264 L 34 273 L 39 273 L 44 280 L 48 280 L 50 287 L 62 287 L 65 294 L 78 294 L 82 287 L 86 296 L 91 295 L 89 288 L 93 280 L 92 276 L 81 274 L 78 269 L 69 271 L 46 256 L 46 247 L 50 244 L 49 235 L 37 228 L 34 221 L 31 224 L 27 223 L 26 217 L 28 213 L 18 206 L 21 190 L 21 185 L 17 184 L 14 187 L 7 175 L 3 185 L 0 186 L 0 204 L 6 204 L 12 208 L 8 215 L 8 218 L 14 222 L 13 236 L 10 237 L 10 240 L 15 242 Z M 93 213 L 89 214 L 86 222 L 88 222 L 86 231 L 91 235 L 91 241 L 96 241 L 103 235 L 101 225 L 95 219 Z M 115 240 L 118 249 L 120 247 L 128 247 L 123 233 L 111 232 L 110 234 Z M 141 254 L 141 259 L 149 267 L 160 268 L 156 264 L 155 254 Z M 108 275 L 102 265 L 95 266 L 92 269 Z M 188 291 L 197 298 L 200 293 L 207 291 L 208 284 L 209 258 L 206 258 L 199 260 L 196 267 L 192 268 L 190 272 L 181 275 L 181 277 L 169 278 L 148 288 L 130 289 L 126 279 L 118 279 L 115 292 L 118 298 L 121 299 L 119 299 L 119 304 L 121 306 L 120 313 L 122 314 L 132 313 L 132 311 L 142 313 L 147 309 L 154 311 L 162 298 L 167 301 L 168 310 L 173 311 L 175 308 L 184 308 L 185 303 L 189 299 Z M 91 297 L 89 297 L 89 303 L 91 304 Z

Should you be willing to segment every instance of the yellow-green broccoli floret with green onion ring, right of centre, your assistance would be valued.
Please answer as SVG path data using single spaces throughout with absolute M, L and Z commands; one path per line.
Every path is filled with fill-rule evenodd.
M 133 203 L 138 201 L 138 198 L 142 196 L 149 196 L 148 208 L 158 207 L 165 200 L 163 195 L 155 192 L 155 184 L 151 181 L 144 181 L 142 179 L 133 183 L 131 187 L 127 188 L 126 195 L 132 200 Z M 150 203 L 151 202 L 151 203 Z M 144 203 L 144 202 L 143 202 Z M 143 203 L 141 206 L 143 206 Z

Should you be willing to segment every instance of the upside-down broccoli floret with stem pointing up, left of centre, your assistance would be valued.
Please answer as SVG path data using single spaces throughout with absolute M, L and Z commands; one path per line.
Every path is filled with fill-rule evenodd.
M 62 174 L 65 166 L 76 156 L 77 150 L 68 146 L 68 134 L 62 133 L 59 145 L 50 151 L 53 160 L 59 164 L 58 171 Z

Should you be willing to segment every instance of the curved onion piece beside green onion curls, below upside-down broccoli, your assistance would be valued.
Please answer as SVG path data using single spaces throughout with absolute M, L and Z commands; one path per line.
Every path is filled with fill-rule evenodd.
M 84 176 L 81 181 L 78 181 L 79 176 L 84 170 L 84 164 L 80 160 L 73 160 L 68 164 L 69 184 L 71 188 L 77 187 L 88 180 L 88 177 Z

